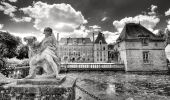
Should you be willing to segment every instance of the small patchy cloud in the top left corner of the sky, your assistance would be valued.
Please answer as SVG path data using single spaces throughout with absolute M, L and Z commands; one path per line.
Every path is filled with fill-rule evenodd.
M 7 2 L 1 2 L 0 11 L 3 11 L 4 14 L 9 15 L 10 17 L 14 17 L 14 12 L 17 11 L 17 7 L 13 6 Z

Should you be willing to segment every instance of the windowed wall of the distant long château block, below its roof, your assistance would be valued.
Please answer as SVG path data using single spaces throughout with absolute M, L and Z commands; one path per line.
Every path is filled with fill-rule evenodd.
M 59 45 L 59 57 L 65 63 L 93 62 L 93 45 Z

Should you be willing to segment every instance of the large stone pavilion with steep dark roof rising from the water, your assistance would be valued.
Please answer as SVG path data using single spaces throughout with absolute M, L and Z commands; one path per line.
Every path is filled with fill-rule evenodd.
M 163 36 L 153 34 L 140 24 L 128 23 L 114 49 L 126 71 L 165 71 L 168 70 L 165 47 Z

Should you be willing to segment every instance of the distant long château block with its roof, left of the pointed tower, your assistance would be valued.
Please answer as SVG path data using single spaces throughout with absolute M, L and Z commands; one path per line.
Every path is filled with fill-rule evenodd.
M 58 51 L 65 63 L 93 62 L 93 42 L 90 38 L 61 38 Z

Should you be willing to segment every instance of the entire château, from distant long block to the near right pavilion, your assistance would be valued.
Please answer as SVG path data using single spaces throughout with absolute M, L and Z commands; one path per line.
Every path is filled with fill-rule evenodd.
M 125 71 L 167 71 L 165 38 L 141 24 L 127 23 L 116 43 L 107 44 L 103 33 L 97 38 L 61 38 L 58 54 L 63 63 L 124 64 Z

